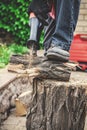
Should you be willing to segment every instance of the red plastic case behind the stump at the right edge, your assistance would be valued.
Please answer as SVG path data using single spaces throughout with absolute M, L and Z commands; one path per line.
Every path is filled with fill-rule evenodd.
M 74 36 L 70 47 L 70 60 L 79 62 L 82 70 L 87 69 L 87 34 Z

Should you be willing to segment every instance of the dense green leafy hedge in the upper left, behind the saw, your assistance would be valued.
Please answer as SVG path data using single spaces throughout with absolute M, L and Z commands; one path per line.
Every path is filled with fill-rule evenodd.
M 0 29 L 10 32 L 16 43 L 25 44 L 29 37 L 27 9 L 30 1 L 2 0 L 0 2 Z

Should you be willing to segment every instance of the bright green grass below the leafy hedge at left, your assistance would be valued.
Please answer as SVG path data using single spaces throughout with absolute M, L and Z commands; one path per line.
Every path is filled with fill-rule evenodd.
M 10 46 L 0 46 L 0 68 L 4 68 L 8 63 L 12 54 L 25 54 L 29 52 L 27 47 L 17 44 L 11 44 Z

